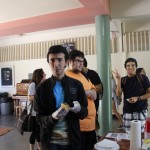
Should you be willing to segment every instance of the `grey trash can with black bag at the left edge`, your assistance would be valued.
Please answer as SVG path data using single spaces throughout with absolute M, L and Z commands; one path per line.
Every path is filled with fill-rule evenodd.
M 1 97 L 0 98 L 0 110 L 1 115 L 10 115 L 13 112 L 13 100 L 11 97 Z

